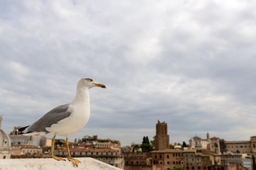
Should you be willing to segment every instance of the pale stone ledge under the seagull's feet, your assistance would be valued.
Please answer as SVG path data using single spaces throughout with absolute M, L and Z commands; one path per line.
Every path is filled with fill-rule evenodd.
M 121 170 L 104 162 L 100 162 L 90 157 L 75 158 L 80 160 L 78 167 L 68 160 L 56 161 L 55 159 L 0 159 L 1 170 Z

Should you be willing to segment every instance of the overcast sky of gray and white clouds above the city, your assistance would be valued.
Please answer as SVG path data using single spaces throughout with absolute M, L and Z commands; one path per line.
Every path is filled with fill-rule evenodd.
M 91 117 L 75 137 L 122 145 L 256 135 L 256 1 L 0 1 L 2 129 L 69 103 L 91 77 Z M 59 137 L 61 138 L 61 137 Z

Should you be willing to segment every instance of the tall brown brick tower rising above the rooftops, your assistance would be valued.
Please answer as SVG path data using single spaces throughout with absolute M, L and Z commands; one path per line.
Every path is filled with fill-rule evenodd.
M 155 140 L 155 149 L 164 150 L 169 149 L 169 135 L 167 134 L 167 123 L 163 122 L 156 124 L 156 136 Z

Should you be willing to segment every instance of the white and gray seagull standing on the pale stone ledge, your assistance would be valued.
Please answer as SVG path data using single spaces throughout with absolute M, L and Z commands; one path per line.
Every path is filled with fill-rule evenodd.
M 53 108 L 51 111 L 43 115 L 42 118 L 35 123 L 17 130 L 18 135 L 36 135 L 44 133 L 46 135 L 54 135 L 51 145 L 50 157 L 58 161 L 65 161 L 61 157 L 53 155 L 55 136 L 65 136 L 65 145 L 68 151 L 68 161 L 75 166 L 81 163 L 78 159 L 73 159 L 68 148 L 68 137 L 74 132 L 82 129 L 90 118 L 90 96 L 89 89 L 97 86 L 106 88 L 104 84 L 99 84 L 93 79 L 83 78 L 78 81 L 77 92 L 73 101 L 68 104 Z

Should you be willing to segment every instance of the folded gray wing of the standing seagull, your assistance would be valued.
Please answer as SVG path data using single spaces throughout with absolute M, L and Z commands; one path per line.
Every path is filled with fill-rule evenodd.
M 35 123 L 30 125 L 26 130 L 29 132 L 46 132 L 47 127 L 50 127 L 53 124 L 58 123 L 60 120 L 67 118 L 71 112 L 68 111 L 69 104 L 61 105 L 53 110 L 49 111 L 42 118 L 37 120 Z

